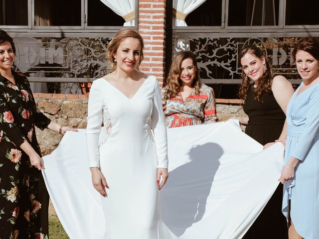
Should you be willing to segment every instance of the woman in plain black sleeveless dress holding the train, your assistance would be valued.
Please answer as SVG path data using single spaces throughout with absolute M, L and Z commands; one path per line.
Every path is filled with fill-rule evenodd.
M 243 48 L 239 59 L 243 70 L 239 96 L 248 117 L 237 119 L 247 125 L 245 133 L 263 145 L 285 138 L 286 109 L 294 94 L 292 85 L 283 76 L 272 77 L 271 65 L 255 45 Z M 287 221 L 281 212 L 282 195 L 280 184 L 244 239 L 288 239 Z

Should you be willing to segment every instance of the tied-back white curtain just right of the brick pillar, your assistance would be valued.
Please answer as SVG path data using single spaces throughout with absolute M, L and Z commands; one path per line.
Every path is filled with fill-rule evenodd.
M 176 9 L 176 14 L 189 14 L 206 0 L 173 0 L 173 8 Z M 182 15 L 182 14 L 181 14 Z M 173 23 L 175 26 L 187 26 L 185 20 L 178 19 L 173 16 Z

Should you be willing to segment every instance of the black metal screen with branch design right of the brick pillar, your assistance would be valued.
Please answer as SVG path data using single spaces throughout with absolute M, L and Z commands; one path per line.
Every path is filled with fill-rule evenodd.
M 300 79 L 295 66 L 291 67 L 293 51 L 298 38 L 173 38 L 173 56 L 181 50 L 192 51 L 200 67 L 200 76 L 205 83 L 241 83 L 238 53 L 249 44 L 259 46 L 273 65 L 273 73 L 288 79 Z M 296 82 L 296 81 L 293 81 Z M 297 81 L 299 82 L 299 81 Z

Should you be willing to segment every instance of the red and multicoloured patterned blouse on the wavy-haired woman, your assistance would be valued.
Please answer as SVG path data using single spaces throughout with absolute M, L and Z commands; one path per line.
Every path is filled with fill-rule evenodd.
M 161 90 L 162 99 L 165 92 L 166 87 Z M 217 121 L 214 91 L 205 84 L 200 87 L 199 95 L 196 95 L 193 89 L 185 102 L 179 92 L 176 97 L 163 100 L 162 105 L 167 128 Z

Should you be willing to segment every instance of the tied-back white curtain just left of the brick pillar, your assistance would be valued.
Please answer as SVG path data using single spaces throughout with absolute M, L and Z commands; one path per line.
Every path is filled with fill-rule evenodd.
M 126 22 L 123 26 L 135 26 L 135 19 L 132 19 L 133 11 L 135 11 L 135 0 L 101 0 L 105 5 L 110 7 L 116 14 L 122 16 Z M 128 15 L 129 14 L 129 15 Z M 128 19 L 132 19 L 127 21 Z M 135 18 L 135 12 L 134 12 Z

